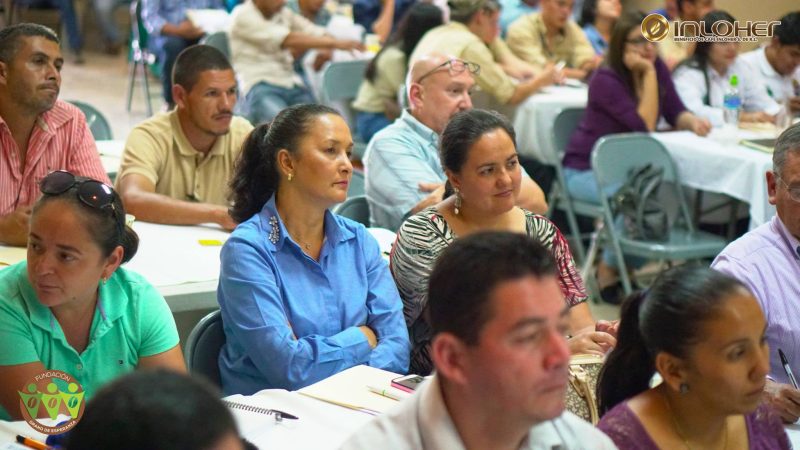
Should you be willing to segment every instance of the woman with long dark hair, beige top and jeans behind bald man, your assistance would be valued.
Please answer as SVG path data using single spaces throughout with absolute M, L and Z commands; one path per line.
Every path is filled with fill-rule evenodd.
M 358 133 L 364 142 L 400 117 L 397 94 L 408 72 L 411 52 L 428 30 L 442 23 L 441 9 L 430 3 L 414 4 L 370 61 L 353 102 Z

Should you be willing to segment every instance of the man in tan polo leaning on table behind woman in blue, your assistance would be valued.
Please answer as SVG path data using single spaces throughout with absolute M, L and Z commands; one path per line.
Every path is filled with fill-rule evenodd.
M 144 121 L 128 136 L 117 189 L 139 220 L 233 229 L 228 180 L 253 129 L 233 116 L 233 69 L 219 50 L 196 45 L 178 55 L 172 84 L 176 108 Z

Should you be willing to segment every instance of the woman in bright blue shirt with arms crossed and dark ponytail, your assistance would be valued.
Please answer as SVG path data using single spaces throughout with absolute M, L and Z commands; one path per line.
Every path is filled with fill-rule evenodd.
M 336 110 L 297 105 L 257 127 L 231 179 L 239 226 L 217 299 L 226 394 L 296 390 L 368 364 L 405 373 L 408 333 L 378 243 L 331 214 L 347 197 L 353 139 Z

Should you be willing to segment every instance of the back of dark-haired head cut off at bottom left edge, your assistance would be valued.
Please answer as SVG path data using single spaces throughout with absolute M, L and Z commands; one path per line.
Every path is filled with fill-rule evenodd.
M 67 434 L 67 450 L 250 450 L 211 385 L 166 370 L 106 385 Z

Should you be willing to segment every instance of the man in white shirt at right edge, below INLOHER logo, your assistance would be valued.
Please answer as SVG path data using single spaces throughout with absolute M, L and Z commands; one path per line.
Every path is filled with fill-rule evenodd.
M 786 14 L 775 27 L 765 47 L 747 52 L 741 59 L 750 64 L 776 102 L 788 103 L 794 114 L 800 112 L 800 11 Z

